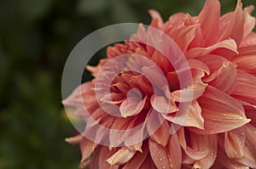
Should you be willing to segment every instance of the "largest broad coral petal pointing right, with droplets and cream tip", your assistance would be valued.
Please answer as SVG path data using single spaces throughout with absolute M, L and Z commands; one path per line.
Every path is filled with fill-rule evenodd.
M 201 105 L 201 114 L 205 120 L 205 129 L 190 127 L 190 130 L 197 133 L 214 134 L 227 132 L 250 121 L 247 119 L 239 101 L 215 87 L 208 86 L 204 95 L 198 99 L 198 102 Z

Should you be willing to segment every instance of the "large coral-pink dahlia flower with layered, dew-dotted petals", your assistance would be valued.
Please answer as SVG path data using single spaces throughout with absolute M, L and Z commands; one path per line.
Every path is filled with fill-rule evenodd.
M 220 16 L 218 0 L 207 0 L 198 16 L 178 13 L 163 22 L 159 13 L 150 10 L 150 27 L 140 25 L 129 41 L 109 47 L 107 59 L 88 67 L 95 79 L 63 101 L 86 121 L 83 134 L 67 138 L 68 143 L 80 144 L 80 166 L 256 168 L 252 11 L 253 6 L 243 9 L 238 0 L 234 12 Z M 178 48 L 166 47 L 168 42 L 152 33 L 153 28 L 171 37 Z M 152 42 L 177 60 L 183 55 L 189 67 L 179 69 L 169 56 L 148 45 Z M 120 55 L 124 57 L 119 62 L 108 65 Z M 116 75 L 119 67 L 127 70 Z M 183 78 L 187 72 L 191 81 Z M 134 127 L 137 130 L 122 132 Z M 102 140 L 104 144 L 99 144 Z

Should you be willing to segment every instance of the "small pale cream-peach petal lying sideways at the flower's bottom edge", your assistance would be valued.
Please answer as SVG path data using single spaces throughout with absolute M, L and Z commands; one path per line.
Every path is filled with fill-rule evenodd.
M 131 151 L 130 149 L 123 147 L 109 157 L 107 161 L 110 166 L 122 165 L 125 164 L 125 162 L 130 161 L 135 153 L 136 151 Z

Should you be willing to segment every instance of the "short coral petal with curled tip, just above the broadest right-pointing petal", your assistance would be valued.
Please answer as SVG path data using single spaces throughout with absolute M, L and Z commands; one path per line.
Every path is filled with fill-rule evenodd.
M 204 82 L 212 87 L 218 88 L 224 93 L 230 94 L 236 86 L 236 67 L 230 62 L 224 62 L 223 65 L 211 76 L 208 76 Z

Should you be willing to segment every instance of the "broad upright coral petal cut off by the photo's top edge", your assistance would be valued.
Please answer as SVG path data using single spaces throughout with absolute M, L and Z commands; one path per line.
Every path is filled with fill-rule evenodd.
M 207 0 L 201 13 L 198 15 L 198 22 L 201 24 L 206 46 L 212 45 L 218 39 L 219 16 L 220 3 L 218 0 Z

